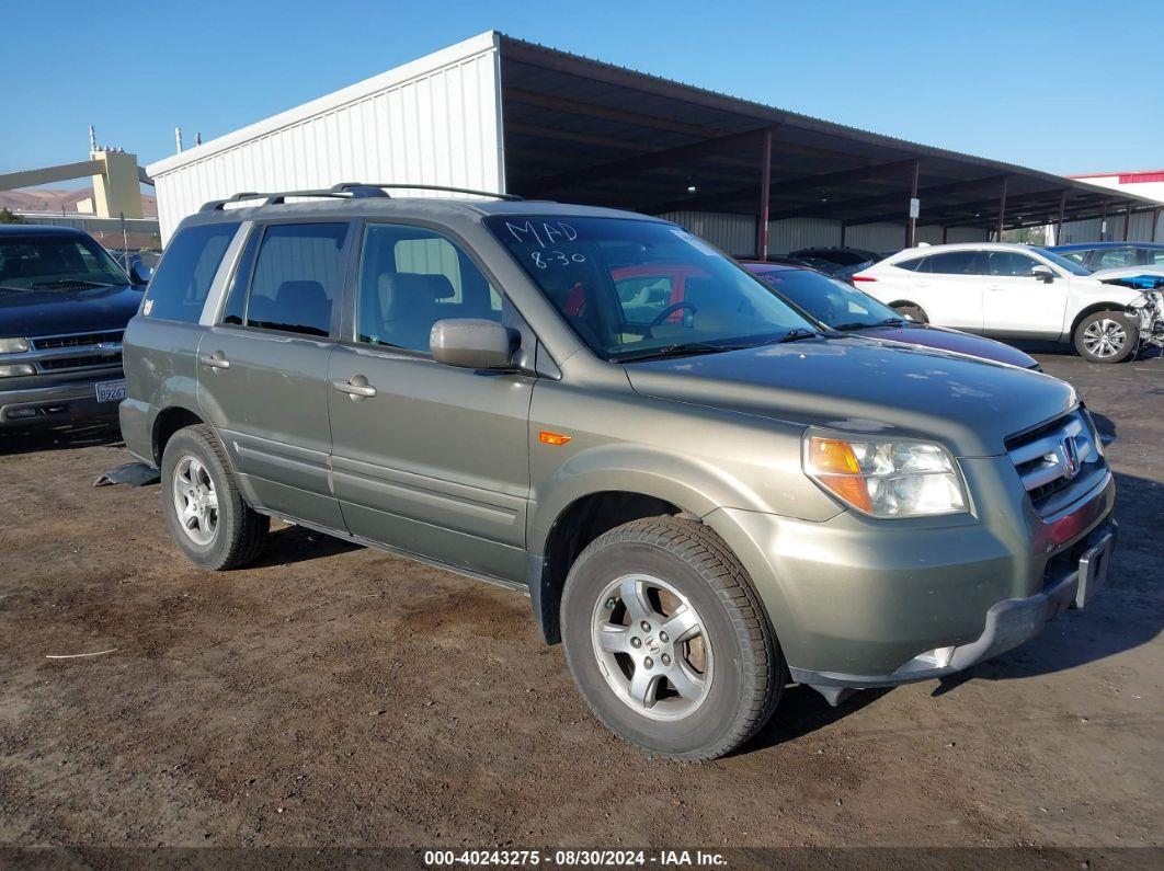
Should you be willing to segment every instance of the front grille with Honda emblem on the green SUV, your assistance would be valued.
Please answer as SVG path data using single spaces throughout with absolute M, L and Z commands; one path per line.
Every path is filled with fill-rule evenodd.
M 1077 486 L 1090 487 L 1095 472 L 1106 469 L 1099 435 L 1083 408 L 1013 435 L 1006 447 L 1039 514 L 1070 502 Z

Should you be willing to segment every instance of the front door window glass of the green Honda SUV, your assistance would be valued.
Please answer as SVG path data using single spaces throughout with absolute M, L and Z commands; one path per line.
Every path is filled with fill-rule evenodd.
M 436 321 L 502 320 L 502 295 L 459 247 L 433 230 L 370 224 L 360 255 L 356 338 L 430 350 Z

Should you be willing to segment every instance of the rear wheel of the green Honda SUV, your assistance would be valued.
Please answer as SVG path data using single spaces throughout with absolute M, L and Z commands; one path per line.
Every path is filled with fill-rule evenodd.
M 179 429 L 162 455 L 162 508 L 190 559 L 223 571 L 262 550 L 270 517 L 242 500 L 222 445 L 206 426 Z

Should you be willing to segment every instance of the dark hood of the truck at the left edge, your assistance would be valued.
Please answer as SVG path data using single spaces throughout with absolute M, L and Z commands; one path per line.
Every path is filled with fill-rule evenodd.
M 51 336 L 125 329 L 142 292 L 130 285 L 80 291 L 0 290 L 0 336 Z

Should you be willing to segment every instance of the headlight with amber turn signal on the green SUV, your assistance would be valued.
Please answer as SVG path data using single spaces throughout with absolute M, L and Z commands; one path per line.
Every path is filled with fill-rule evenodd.
M 941 444 L 809 430 L 803 464 L 812 480 L 874 517 L 966 511 L 958 466 Z

